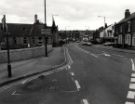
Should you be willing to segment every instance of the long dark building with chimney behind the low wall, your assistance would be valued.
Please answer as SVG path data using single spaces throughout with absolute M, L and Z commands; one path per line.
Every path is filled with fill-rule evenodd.
M 0 24 L 1 27 L 2 24 Z M 9 32 L 9 45 L 11 49 L 36 47 L 44 45 L 44 35 L 41 34 L 41 30 L 45 27 L 43 23 L 40 23 L 37 15 L 34 17 L 33 24 L 17 24 L 8 23 Z M 55 27 L 55 26 L 53 26 Z M 55 34 L 58 30 L 52 34 L 52 27 L 46 26 L 45 29 L 50 30 L 51 34 L 48 34 L 48 43 L 52 44 Z M 55 39 L 56 40 L 56 39 Z M 2 49 L 6 49 L 6 36 L 0 29 L 0 45 Z

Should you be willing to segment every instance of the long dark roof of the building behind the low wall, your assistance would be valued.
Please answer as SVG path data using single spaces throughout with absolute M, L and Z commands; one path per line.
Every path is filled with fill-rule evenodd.
M 10 36 L 38 36 L 41 35 L 41 29 L 44 28 L 44 24 L 17 24 L 8 23 L 8 32 Z M 0 27 L 2 24 L 0 23 Z M 51 28 L 51 27 L 46 27 Z M 0 36 L 2 36 L 2 30 L 0 29 Z

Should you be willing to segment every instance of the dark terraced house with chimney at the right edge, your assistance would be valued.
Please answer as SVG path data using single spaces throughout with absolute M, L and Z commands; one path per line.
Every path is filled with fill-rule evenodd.
M 135 13 L 125 10 L 125 17 L 115 24 L 116 44 L 122 47 L 135 47 Z

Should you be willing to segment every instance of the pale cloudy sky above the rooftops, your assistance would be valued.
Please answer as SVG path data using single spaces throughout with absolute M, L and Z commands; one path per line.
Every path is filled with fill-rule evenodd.
M 135 12 L 135 0 L 47 0 L 47 25 L 52 15 L 60 30 L 95 30 L 124 18 L 125 9 Z M 44 22 L 44 0 L 1 0 L 0 19 L 8 23 L 34 23 L 37 14 Z M 100 16 L 100 17 L 99 17 Z

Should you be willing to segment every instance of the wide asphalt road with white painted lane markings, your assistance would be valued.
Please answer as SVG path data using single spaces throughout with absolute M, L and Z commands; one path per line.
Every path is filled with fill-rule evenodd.
M 63 70 L 0 89 L 0 104 L 135 104 L 134 54 L 66 46 Z

